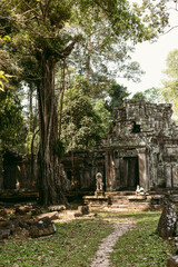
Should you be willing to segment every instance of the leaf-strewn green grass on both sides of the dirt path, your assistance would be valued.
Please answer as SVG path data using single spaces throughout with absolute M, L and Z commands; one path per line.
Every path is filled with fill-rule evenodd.
M 156 211 L 98 212 L 95 219 L 59 224 L 52 236 L 0 244 L 0 267 L 87 267 L 99 243 L 112 231 L 110 222 L 123 222 L 126 218 L 137 225 L 119 238 L 110 255 L 111 266 L 165 267 L 175 251 L 171 240 L 162 240 L 156 234 L 159 217 Z

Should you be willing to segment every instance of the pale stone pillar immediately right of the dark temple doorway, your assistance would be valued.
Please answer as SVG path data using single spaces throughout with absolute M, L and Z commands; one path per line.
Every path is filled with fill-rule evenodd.
M 139 162 L 140 187 L 144 187 L 145 190 L 148 190 L 149 189 L 149 179 L 148 179 L 148 171 L 147 171 L 146 148 L 138 149 L 138 162 Z

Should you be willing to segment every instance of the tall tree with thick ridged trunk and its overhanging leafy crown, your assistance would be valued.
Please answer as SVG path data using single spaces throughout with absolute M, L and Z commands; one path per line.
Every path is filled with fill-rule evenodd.
M 158 7 L 159 8 L 159 7 Z M 40 117 L 39 191 L 44 205 L 62 200 L 61 174 L 56 144 L 59 139 L 55 69 L 82 38 L 82 17 L 106 17 L 113 34 L 135 42 L 152 37 L 149 24 L 125 0 L 1 0 L 0 22 L 10 28 L 17 51 L 34 58 L 40 70 L 38 90 Z M 88 21 L 90 22 L 90 21 Z M 152 26 L 154 28 L 157 26 Z

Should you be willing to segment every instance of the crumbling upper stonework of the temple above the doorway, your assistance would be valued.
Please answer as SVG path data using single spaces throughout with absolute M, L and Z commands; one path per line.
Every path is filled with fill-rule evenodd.
M 116 115 L 117 113 L 117 115 Z M 164 132 L 165 135 L 178 134 L 175 122 L 171 120 L 171 105 L 149 103 L 144 101 L 127 101 L 115 113 L 118 134 L 149 134 Z M 139 126 L 140 131 L 134 132 L 134 123 Z M 177 131 L 177 132 L 176 132 Z

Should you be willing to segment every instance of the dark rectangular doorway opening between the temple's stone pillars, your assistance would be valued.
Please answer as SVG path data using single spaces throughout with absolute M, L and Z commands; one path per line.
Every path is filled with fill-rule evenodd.
M 127 189 L 135 190 L 139 185 L 139 164 L 138 157 L 127 157 L 125 159 L 125 179 Z

